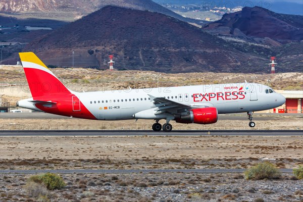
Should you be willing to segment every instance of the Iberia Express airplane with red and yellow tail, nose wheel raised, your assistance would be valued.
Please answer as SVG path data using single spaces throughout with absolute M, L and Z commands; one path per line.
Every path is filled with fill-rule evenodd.
M 34 53 L 19 53 L 32 97 L 18 107 L 91 120 L 155 120 L 154 131 L 170 132 L 170 121 L 212 124 L 218 114 L 252 114 L 279 107 L 285 97 L 259 83 L 227 83 L 179 87 L 74 92 L 68 89 Z M 166 120 L 162 126 L 159 121 Z

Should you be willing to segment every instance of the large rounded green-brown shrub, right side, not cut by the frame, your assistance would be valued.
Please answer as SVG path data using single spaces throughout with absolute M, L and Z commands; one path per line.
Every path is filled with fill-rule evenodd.
M 269 162 L 260 163 L 244 172 L 245 179 L 273 179 L 281 176 L 279 169 Z

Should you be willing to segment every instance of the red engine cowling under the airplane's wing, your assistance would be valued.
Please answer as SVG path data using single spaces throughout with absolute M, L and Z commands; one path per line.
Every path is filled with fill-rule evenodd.
M 218 121 L 218 111 L 214 107 L 193 109 L 189 114 L 175 118 L 177 123 L 211 124 Z

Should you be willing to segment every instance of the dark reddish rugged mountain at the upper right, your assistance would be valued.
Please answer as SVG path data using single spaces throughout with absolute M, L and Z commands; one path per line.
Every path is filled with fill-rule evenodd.
M 240 30 L 246 36 L 268 37 L 280 42 L 303 40 L 303 16 L 277 14 L 261 7 L 244 7 L 242 11 L 225 14 L 221 20 L 203 28 L 218 34 L 223 33 L 222 30 L 225 34 Z

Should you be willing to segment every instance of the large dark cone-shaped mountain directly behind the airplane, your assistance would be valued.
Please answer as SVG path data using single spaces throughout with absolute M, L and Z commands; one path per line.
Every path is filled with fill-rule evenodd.
M 117 69 L 266 72 L 271 50 L 262 48 L 263 55 L 259 50 L 164 14 L 108 6 L 33 40 L 23 51 L 35 52 L 46 65 L 63 67 L 74 63 L 105 69 L 113 54 Z

